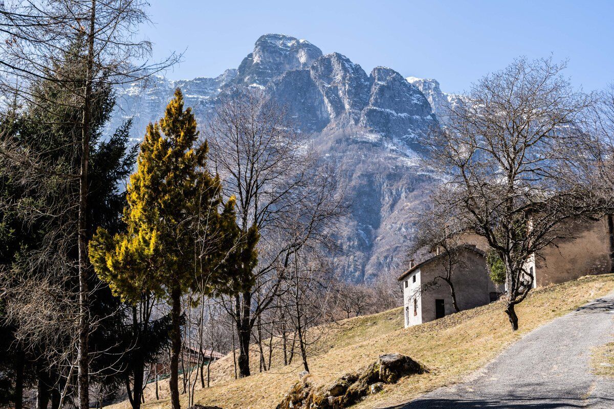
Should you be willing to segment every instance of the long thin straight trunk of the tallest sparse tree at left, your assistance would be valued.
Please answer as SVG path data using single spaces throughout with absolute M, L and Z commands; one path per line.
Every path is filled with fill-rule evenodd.
M 79 409 L 90 407 L 90 373 L 89 373 L 89 347 L 88 335 L 90 332 L 90 311 L 88 305 L 87 283 L 87 191 L 88 191 L 88 165 L 90 160 L 90 103 L 94 65 L 94 36 L 96 23 L 96 0 L 91 0 L 90 32 L 87 46 L 87 72 L 85 73 L 84 109 L 81 128 L 81 160 L 79 174 L 79 221 L 77 228 L 79 251 L 79 342 L 77 344 L 77 383 L 79 396 Z

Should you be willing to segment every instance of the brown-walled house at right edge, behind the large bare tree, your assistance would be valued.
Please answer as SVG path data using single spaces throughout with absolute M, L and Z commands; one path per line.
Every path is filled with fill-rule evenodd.
M 525 264 L 534 288 L 613 272 L 612 215 L 597 221 L 570 221 L 556 229 L 554 242 Z

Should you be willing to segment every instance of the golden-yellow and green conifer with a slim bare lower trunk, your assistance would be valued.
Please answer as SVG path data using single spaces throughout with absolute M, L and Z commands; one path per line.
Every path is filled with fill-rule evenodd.
M 236 258 L 228 256 L 238 232 L 235 200 L 223 204 L 220 180 L 206 170 L 207 143 L 197 139 L 196 120 L 177 89 L 165 117 L 147 126 L 126 191 L 126 232 L 111 237 L 99 229 L 90 242 L 91 262 L 115 294 L 136 302 L 150 292 L 172 307 L 173 409 L 179 409 L 182 294 L 214 291 L 227 280 L 223 262 Z

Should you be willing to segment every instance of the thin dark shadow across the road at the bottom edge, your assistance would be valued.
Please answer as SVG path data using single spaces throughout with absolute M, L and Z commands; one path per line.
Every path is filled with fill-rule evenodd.
M 602 399 L 603 401 L 603 399 Z M 505 400 L 498 399 L 440 399 L 422 398 L 403 405 L 391 406 L 384 409 L 559 409 L 559 408 L 585 408 L 584 399 L 567 399 L 560 397 L 540 397 L 540 398 L 511 398 Z M 614 407 L 614 399 L 607 399 L 606 407 Z

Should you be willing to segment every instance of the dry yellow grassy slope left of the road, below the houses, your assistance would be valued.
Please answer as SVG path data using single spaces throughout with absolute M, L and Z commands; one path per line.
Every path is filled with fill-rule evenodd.
M 614 275 L 601 275 L 533 291 L 517 308 L 520 318 L 517 332 L 511 331 L 499 303 L 408 329 L 403 329 L 402 308 L 346 319 L 327 326 L 327 336 L 319 340 L 317 356 L 309 359 L 312 380 L 316 384 L 329 383 L 375 361 L 379 354 L 400 352 L 426 365 L 430 372 L 388 385 L 356 408 L 407 402 L 439 386 L 461 381 L 523 334 L 613 290 Z M 233 379 L 232 356 L 220 359 L 211 365 L 211 388 L 200 389 L 198 382 L 195 403 L 215 404 L 224 409 L 274 408 L 302 370 L 298 362 L 283 367 L 280 355 L 281 351 L 274 353 L 270 372 L 257 373 L 259 357 L 254 352 L 251 362 L 255 375 L 239 380 Z M 146 391 L 144 409 L 169 407 L 168 385 L 161 382 L 160 389 L 160 400 L 155 400 L 151 389 Z M 182 406 L 185 405 L 187 394 L 182 395 Z M 129 407 L 122 402 L 113 409 Z

